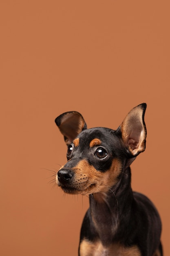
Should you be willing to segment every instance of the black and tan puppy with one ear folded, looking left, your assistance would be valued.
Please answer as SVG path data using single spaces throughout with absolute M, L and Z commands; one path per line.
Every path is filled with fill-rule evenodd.
M 146 104 L 133 108 L 117 130 L 86 128 L 78 112 L 55 119 L 68 145 L 57 173 L 65 193 L 89 194 L 79 256 L 162 256 L 161 221 L 150 200 L 131 189 L 130 164 L 145 150 Z

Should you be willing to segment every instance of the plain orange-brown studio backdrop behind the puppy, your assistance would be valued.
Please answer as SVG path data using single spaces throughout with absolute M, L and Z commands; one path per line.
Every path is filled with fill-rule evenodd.
M 170 255 L 168 2 L 1 1 L 0 256 L 77 255 L 88 198 L 48 183 L 66 162 L 54 119 L 77 110 L 116 129 L 142 102 L 132 187 L 157 206 Z

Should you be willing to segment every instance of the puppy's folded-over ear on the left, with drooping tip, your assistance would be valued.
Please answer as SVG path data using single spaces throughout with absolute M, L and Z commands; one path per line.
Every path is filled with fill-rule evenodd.
M 55 123 L 60 129 L 67 145 L 77 137 L 77 135 L 87 128 L 84 118 L 79 112 L 65 112 L 55 119 Z

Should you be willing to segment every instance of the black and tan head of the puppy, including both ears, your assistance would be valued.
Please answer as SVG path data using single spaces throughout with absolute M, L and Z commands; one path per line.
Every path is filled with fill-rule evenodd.
M 66 164 L 57 173 L 64 192 L 107 192 L 119 180 L 122 169 L 145 150 L 146 103 L 133 108 L 117 130 L 87 129 L 79 112 L 66 112 L 55 119 L 68 146 Z

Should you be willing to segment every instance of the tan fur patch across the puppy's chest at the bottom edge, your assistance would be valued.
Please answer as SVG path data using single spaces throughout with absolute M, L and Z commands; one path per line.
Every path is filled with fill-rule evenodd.
M 100 241 L 91 243 L 83 240 L 80 244 L 80 256 L 141 256 L 137 246 L 124 247 L 120 244 L 113 244 L 104 247 Z

